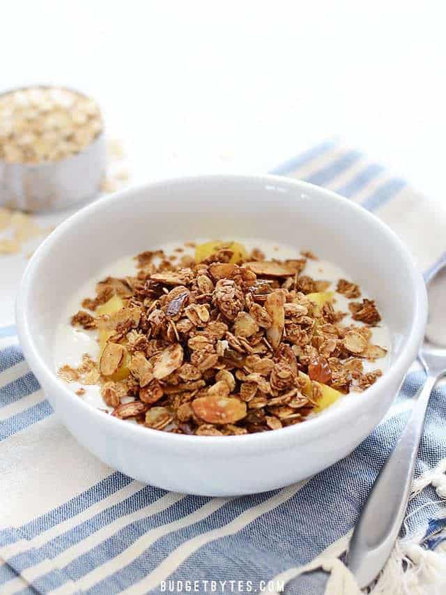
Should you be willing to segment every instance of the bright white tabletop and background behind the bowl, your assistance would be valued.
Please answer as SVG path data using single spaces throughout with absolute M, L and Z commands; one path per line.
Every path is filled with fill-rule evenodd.
M 266 172 L 339 136 L 441 202 L 442 16 L 440 2 L 15 0 L 1 10 L 0 86 L 91 93 L 132 184 Z M 25 264 L 0 257 L 0 326 Z

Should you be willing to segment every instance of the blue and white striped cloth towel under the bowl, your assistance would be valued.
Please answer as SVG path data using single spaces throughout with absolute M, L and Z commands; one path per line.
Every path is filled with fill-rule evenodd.
M 376 212 L 423 269 L 445 249 L 440 207 L 357 151 L 325 142 L 274 173 L 336 190 Z M 422 382 L 415 366 L 386 421 L 330 469 L 254 496 L 196 497 L 141 485 L 84 451 L 52 414 L 14 333 L 0 329 L 1 594 L 257 592 L 261 581 L 275 578 L 276 590 L 288 581 L 286 592 L 316 595 L 325 589 L 325 573 L 295 578 L 295 568 L 315 558 L 309 568 L 332 569 L 328 591 L 357 592 L 336 558 Z M 406 537 L 376 594 L 446 591 L 445 420 L 440 387 L 429 408 Z

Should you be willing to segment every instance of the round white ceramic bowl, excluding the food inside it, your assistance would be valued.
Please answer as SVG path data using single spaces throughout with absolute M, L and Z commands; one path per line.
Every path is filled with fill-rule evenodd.
M 314 250 L 373 296 L 392 333 L 390 370 L 321 416 L 272 432 L 174 435 L 127 423 L 73 395 L 54 371 L 52 345 L 73 292 L 106 264 L 166 241 L 258 237 Z M 422 276 L 397 236 L 333 193 L 277 176 L 200 176 L 141 186 L 86 206 L 60 225 L 26 268 L 17 326 L 31 369 L 68 430 L 102 461 L 178 492 L 272 490 L 332 465 L 390 406 L 424 334 Z

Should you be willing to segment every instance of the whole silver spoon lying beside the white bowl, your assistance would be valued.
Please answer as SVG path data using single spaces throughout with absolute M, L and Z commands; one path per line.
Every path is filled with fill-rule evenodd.
M 446 273 L 446 253 L 424 275 L 429 289 L 429 322 L 426 337 L 418 352 L 418 360 L 426 372 L 426 379 L 414 397 L 410 419 L 378 474 L 350 541 L 346 565 L 362 589 L 383 568 L 399 535 L 410 495 L 429 397 L 438 380 L 446 375 L 446 320 L 445 324 L 440 324 L 437 319 L 437 324 L 433 324 L 433 310 L 437 310 L 437 314 L 444 310 L 438 299 L 440 284 L 436 283 L 444 276 L 442 273 Z M 444 295 L 443 289 L 443 302 Z M 433 308 L 434 304 L 436 308 Z M 439 335 L 438 329 L 443 331 L 443 336 Z

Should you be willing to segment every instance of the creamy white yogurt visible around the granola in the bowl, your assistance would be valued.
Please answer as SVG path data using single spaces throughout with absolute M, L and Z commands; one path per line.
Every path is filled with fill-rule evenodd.
M 206 241 L 206 239 L 197 239 L 197 243 L 201 241 Z M 286 259 L 295 259 L 300 258 L 300 252 L 291 246 L 285 246 L 284 244 L 278 244 L 275 242 L 269 241 L 259 241 L 259 240 L 251 240 L 251 239 L 240 239 L 238 240 L 240 243 L 243 243 L 247 251 L 249 252 L 253 248 L 260 248 L 262 252 L 265 254 L 266 259 L 279 259 L 279 260 L 286 260 Z M 175 253 L 175 248 L 183 248 L 183 253 Z M 183 246 L 183 244 L 178 243 L 166 243 L 158 246 L 164 250 L 166 255 L 178 255 L 178 260 L 183 255 L 194 255 L 193 248 L 187 248 Z M 153 248 L 155 249 L 155 248 Z M 68 302 L 59 323 L 59 326 L 56 330 L 56 336 L 54 340 L 54 368 L 59 370 L 61 366 L 68 363 L 68 365 L 77 367 L 79 363 L 82 361 L 82 355 L 84 353 L 90 354 L 93 359 L 96 359 L 99 355 L 99 346 L 96 340 L 96 332 L 95 331 L 84 331 L 79 327 L 71 326 L 70 319 L 73 314 L 75 314 L 79 309 L 82 308 L 82 300 L 85 297 L 94 297 L 95 296 L 95 287 L 96 283 L 99 280 L 106 278 L 107 276 L 112 277 L 125 277 L 125 276 L 132 276 L 136 273 L 136 261 L 134 259 L 134 255 L 129 257 L 123 257 L 118 261 L 107 265 L 104 269 L 98 271 L 93 278 L 87 281 L 79 290 L 72 296 L 72 299 Z M 341 267 L 337 266 L 336 264 L 332 264 L 326 260 L 312 260 L 307 259 L 307 264 L 305 265 L 305 269 L 303 274 L 308 275 L 316 280 L 326 280 L 330 281 L 331 285 L 328 287 L 328 291 L 335 291 L 337 282 L 339 279 L 346 279 L 346 280 L 353 280 L 348 273 L 341 269 Z M 361 287 L 361 298 L 367 298 L 368 295 L 364 292 L 364 289 Z M 350 312 L 348 310 L 348 303 L 350 300 L 346 298 L 346 296 L 335 293 L 335 302 L 334 308 L 335 310 L 341 310 L 342 312 L 348 312 L 348 315 L 344 317 L 342 320 L 343 324 L 362 324 L 353 321 L 351 318 Z M 390 366 L 390 349 L 391 349 L 391 338 L 390 333 L 387 329 L 387 326 L 380 322 L 379 326 L 374 326 L 371 329 L 371 342 L 380 345 L 380 347 L 384 347 L 387 349 L 387 355 L 382 358 L 378 359 L 375 362 L 370 362 L 364 360 L 364 371 L 369 370 L 382 370 L 385 372 L 387 368 Z M 72 382 L 68 386 L 72 389 L 73 392 L 77 391 L 80 388 L 80 384 L 77 382 Z M 91 386 L 83 386 L 85 389 L 85 393 L 82 398 L 89 402 L 93 407 L 97 407 L 99 409 L 109 409 L 105 405 L 105 402 L 102 400 L 100 396 L 100 387 L 91 385 Z M 333 406 L 336 406 L 334 403 Z

